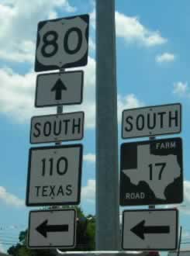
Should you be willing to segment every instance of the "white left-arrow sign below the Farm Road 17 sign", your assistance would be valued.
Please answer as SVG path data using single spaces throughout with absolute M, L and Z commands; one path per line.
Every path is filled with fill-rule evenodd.
M 177 209 L 123 211 L 122 247 L 127 251 L 175 250 Z

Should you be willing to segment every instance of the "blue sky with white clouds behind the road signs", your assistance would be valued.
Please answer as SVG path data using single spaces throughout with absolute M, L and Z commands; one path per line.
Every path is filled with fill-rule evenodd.
M 188 0 L 116 0 L 119 144 L 123 109 L 181 102 L 185 201 L 180 210 L 183 239 L 190 241 L 190 107 Z M 32 116 L 55 113 L 34 108 L 37 23 L 89 13 L 90 39 L 84 102 L 64 112 L 85 111 L 81 207 L 95 213 L 95 2 L 93 0 L 1 0 L 0 2 L 0 251 L 27 227 L 25 206 L 29 125 Z M 5 239 L 6 237 L 6 239 Z M 16 238 L 9 238 L 16 237 Z

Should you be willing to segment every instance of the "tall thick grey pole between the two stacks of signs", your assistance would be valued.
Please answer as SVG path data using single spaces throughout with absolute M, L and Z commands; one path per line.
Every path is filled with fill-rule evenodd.
M 96 0 L 96 250 L 119 251 L 115 0 Z

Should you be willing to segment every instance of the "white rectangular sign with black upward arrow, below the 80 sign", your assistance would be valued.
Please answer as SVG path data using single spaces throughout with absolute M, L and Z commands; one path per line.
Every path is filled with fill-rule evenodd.
M 84 72 L 71 71 L 39 74 L 36 81 L 35 106 L 81 104 Z

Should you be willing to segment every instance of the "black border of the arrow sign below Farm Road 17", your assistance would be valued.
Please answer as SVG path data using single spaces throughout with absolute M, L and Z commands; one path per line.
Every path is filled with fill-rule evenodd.
M 126 212 L 166 212 L 166 211 L 174 211 L 176 213 L 176 223 L 175 223 L 175 247 L 173 248 L 124 248 L 123 247 L 123 238 L 124 238 L 124 213 Z M 176 250 L 178 247 L 178 209 L 129 209 L 123 211 L 122 216 L 122 249 L 125 251 L 169 251 L 169 250 Z

